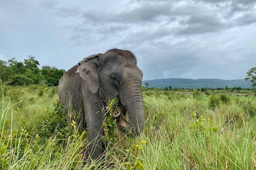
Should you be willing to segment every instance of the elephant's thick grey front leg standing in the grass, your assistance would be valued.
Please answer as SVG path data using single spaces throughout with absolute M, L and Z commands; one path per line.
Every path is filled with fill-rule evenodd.
M 101 103 L 92 102 L 85 108 L 86 126 L 89 132 L 90 155 L 93 159 L 102 156 L 103 115 Z M 88 105 L 87 105 L 88 106 Z

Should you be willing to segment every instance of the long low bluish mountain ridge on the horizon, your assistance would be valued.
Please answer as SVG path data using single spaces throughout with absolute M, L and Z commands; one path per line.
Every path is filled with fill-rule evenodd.
M 228 87 L 242 87 L 242 88 L 252 88 L 252 84 L 244 79 L 237 80 L 222 80 L 222 79 L 187 79 L 187 78 L 167 78 L 167 79 L 155 79 L 142 81 L 142 85 L 145 86 L 145 82 L 149 83 L 149 87 L 184 87 L 184 88 L 225 88 Z

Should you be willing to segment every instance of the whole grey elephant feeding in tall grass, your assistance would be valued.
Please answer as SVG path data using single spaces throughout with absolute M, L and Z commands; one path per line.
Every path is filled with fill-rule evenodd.
M 138 136 L 144 126 L 142 96 L 143 72 L 129 50 L 110 49 L 85 57 L 69 69 L 60 79 L 58 95 L 64 105 L 71 103 L 74 111 L 85 116 L 89 133 L 89 150 L 92 159 L 102 157 L 102 107 L 119 97 L 121 111 L 114 111 L 118 127 L 130 137 Z M 123 117 L 128 114 L 129 122 Z

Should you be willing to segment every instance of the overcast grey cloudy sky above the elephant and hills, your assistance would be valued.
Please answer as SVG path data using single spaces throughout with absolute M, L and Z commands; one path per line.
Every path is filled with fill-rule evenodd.
M 256 66 L 255 0 L 1 0 L 0 59 L 68 70 L 117 47 L 143 80 L 243 79 Z

